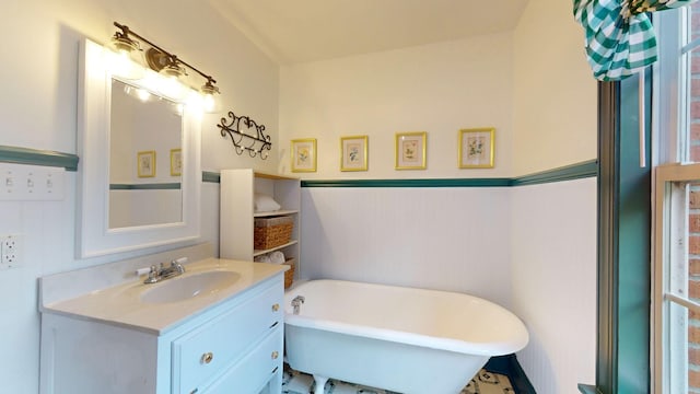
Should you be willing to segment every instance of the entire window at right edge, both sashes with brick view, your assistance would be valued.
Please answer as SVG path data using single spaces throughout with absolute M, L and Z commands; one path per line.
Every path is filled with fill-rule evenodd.
M 700 4 L 655 19 L 653 392 L 700 393 Z

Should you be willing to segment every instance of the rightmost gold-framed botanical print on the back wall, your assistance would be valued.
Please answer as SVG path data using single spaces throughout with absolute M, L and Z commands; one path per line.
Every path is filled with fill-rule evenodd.
M 459 130 L 459 169 L 492 169 L 493 127 Z

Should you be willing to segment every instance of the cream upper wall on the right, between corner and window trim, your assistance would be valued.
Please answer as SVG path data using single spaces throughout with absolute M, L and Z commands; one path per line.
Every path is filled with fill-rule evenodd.
M 597 84 L 571 1 L 529 0 L 513 40 L 512 175 L 595 159 Z

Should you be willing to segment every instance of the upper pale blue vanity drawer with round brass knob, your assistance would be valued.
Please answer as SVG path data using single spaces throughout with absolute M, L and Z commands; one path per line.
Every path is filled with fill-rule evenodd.
M 283 324 L 283 286 L 264 290 L 173 341 L 173 393 L 189 394 Z

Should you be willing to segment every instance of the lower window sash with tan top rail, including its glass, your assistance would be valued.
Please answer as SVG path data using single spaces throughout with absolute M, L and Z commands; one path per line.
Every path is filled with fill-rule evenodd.
M 655 386 L 700 392 L 700 164 L 656 169 Z

